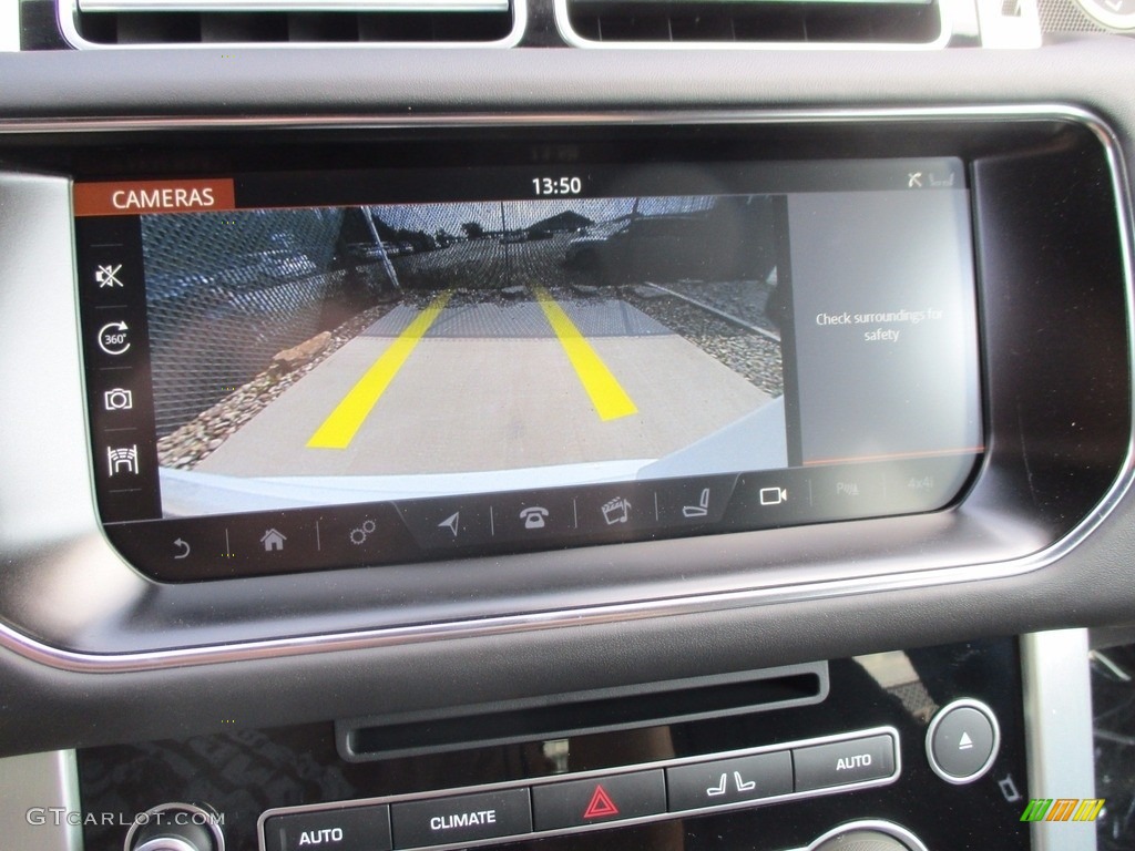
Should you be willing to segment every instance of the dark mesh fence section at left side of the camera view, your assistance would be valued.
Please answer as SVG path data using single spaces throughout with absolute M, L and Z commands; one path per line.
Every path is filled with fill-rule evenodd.
M 345 210 L 142 220 L 158 435 L 185 424 L 336 317 Z

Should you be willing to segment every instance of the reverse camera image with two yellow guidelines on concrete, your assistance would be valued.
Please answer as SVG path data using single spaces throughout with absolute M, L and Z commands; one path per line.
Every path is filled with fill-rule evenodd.
M 143 218 L 167 516 L 787 465 L 774 199 Z

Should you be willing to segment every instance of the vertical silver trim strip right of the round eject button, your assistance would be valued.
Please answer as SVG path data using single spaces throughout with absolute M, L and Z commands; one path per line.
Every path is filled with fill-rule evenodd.
M 1029 798 L 1095 798 L 1087 651 L 1087 630 L 1020 639 Z M 1036 851 L 1095 851 L 1092 821 L 1034 821 L 1031 828 Z

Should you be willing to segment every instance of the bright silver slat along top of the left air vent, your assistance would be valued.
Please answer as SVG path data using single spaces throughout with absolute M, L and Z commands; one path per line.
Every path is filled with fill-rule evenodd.
M 103 11 L 508 11 L 508 0 L 78 0 Z

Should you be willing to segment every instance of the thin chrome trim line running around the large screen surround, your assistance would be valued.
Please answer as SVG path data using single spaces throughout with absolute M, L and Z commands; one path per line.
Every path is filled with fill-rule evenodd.
M 1128 336 L 1135 338 L 1130 310 L 1132 289 L 1132 248 L 1130 248 L 1130 201 L 1127 188 L 1127 176 L 1120 155 L 1118 141 L 1111 129 L 1095 115 L 1083 109 L 1061 104 L 1046 106 L 1010 106 L 1010 107 L 975 107 L 943 109 L 883 109 L 883 110 L 818 110 L 818 111 L 725 111 L 725 112 L 616 112 L 585 115 L 530 115 L 530 116 L 470 116 L 461 118 L 394 118 L 394 117 L 312 117 L 312 118 L 138 118 L 138 119 L 58 119 L 58 120 L 16 120 L 0 123 L 2 133 L 109 133 L 125 129 L 143 129 L 153 132 L 176 132 L 191 127 L 209 128 L 348 128 L 348 127 L 432 127 L 432 126 L 557 126 L 557 125 L 617 125 L 636 124 L 841 124 L 841 123 L 902 123 L 910 120 L 1067 120 L 1083 125 L 1096 135 L 1104 148 L 1111 169 L 1112 188 L 1118 200 L 1117 217 L 1119 224 L 1124 278 L 1127 283 L 1127 325 Z M 51 192 L 60 192 L 62 178 L 37 178 L 48 182 Z M 54 214 L 54 213 L 53 213 Z M 0 267 L 3 258 L 0 256 Z M 67 262 L 72 262 L 67 259 Z M 15 279 L 15 278 L 7 278 Z M 9 288 L 10 289 L 10 288 Z M 72 293 L 74 310 L 75 295 Z M 6 338 L 0 337 L 0 355 Z M 42 347 L 42 342 L 36 342 Z M 8 363 L 15 368 L 22 361 L 17 352 L 9 353 Z M 78 338 L 62 346 L 60 356 L 67 355 L 78 360 Z M 0 371 L 5 359 L 0 357 Z M 74 386 L 75 399 L 83 398 L 82 386 L 78 384 L 78 370 L 73 365 L 74 376 L 65 380 L 66 387 Z M 43 376 L 36 380 L 42 381 Z M 77 404 L 77 403 L 76 403 Z M 58 414 L 57 414 L 58 415 Z M 83 433 L 90 433 L 85 423 Z M 77 436 L 76 436 L 77 437 Z M 82 438 L 86 449 L 89 437 Z M 18 443 L 18 441 L 17 441 Z M 18 462 L 14 462 L 18 463 Z M 131 571 L 101 536 L 98 516 L 94 512 L 94 497 L 90 482 L 89 458 L 83 462 L 83 516 L 74 517 L 81 523 L 78 532 L 91 538 L 90 547 L 84 555 L 90 559 L 101 556 L 108 562 L 121 564 L 124 572 Z M 6 474 L 7 474 L 6 469 Z M 67 480 L 74 485 L 74 471 Z M 747 588 L 730 592 L 690 593 L 671 599 L 639 600 L 613 606 L 594 608 L 561 609 L 531 614 L 487 617 L 482 620 L 454 621 L 373 629 L 356 632 L 340 632 L 317 635 L 299 635 L 271 640 L 235 641 L 209 647 L 180 647 L 171 649 L 144 650 L 129 654 L 96 654 L 64 650 L 36 640 L 7 624 L 0 623 L 0 646 L 43 665 L 77 671 L 77 672 L 124 672 L 143 671 L 182 665 L 197 665 L 215 662 L 251 660 L 271 657 L 294 656 L 311 652 L 331 652 L 373 648 L 392 644 L 406 644 L 426 641 L 438 641 L 452 638 L 471 638 L 514 633 L 532 630 L 558 629 L 587 624 L 624 622 L 648 617 L 693 614 L 707 610 L 790 603 L 819 600 L 832 597 L 858 593 L 875 593 L 906 589 L 944 585 L 959 582 L 981 582 L 991 579 L 1003 579 L 1040 570 L 1062 558 L 1075 549 L 1092 533 L 1104 519 L 1116 508 L 1124 495 L 1130 488 L 1133 479 L 1133 450 L 1128 438 L 1127 456 L 1120 474 L 1104 495 L 1101 503 L 1069 534 L 1052 546 L 1020 558 L 993 562 L 987 564 L 944 564 L 928 570 L 906 570 L 885 575 L 859 576 L 839 581 L 812 581 L 798 584 L 765 588 Z M 36 479 L 41 480 L 41 479 Z M 3 529 L 0 526 L 0 532 Z M 755 533 L 759 534 L 759 533 Z M 94 549 L 98 548 L 98 549 Z M 62 592 L 62 591 L 60 591 Z

